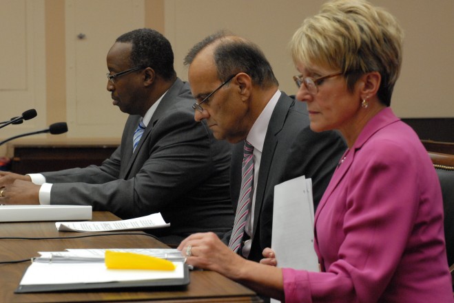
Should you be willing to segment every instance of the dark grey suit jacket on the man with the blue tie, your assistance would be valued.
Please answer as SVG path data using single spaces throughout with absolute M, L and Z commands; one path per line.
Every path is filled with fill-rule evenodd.
M 46 181 L 54 183 L 50 203 L 92 205 L 123 219 L 161 212 L 171 225 L 151 233 L 176 235 L 179 240 L 195 232 L 227 232 L 234 218 L 231 145 L 216 140 L 205 122 L 194 120 L 193 103 L 189 85 L 177 79 L 154 112 L 136 153 L 132 136 L 140 117 L 130 115 L 121 146 L 101 166 L 44 173 Z

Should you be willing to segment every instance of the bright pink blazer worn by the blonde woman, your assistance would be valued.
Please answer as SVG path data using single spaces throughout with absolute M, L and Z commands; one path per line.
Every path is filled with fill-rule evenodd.
M 322 272 L 282 269 L 290 302 L 454 302 L 440 182 L 386 108 L 344 154 L 315 217 Z

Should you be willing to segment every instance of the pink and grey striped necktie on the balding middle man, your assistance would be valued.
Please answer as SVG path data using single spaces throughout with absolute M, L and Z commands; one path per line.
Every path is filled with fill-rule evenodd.
M 238 205 L 236 207 L 236 215 L 234 221 L 234 229 L 230 236 L 229 247 L 234 252 L 237 252 L 241 246 L 243 234 L 245 234 L 245 227 L 247 223 L 247 214 L 252 201 L 252 194 L 254 193 L 254 146 L 245 140 L 245 148 L 243 154 L 243 166 L 241 169 L 241 190 L 240 197 L 238 198 Z

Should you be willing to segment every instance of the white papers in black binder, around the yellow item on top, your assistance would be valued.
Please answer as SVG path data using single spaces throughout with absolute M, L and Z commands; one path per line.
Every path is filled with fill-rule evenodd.
M 68 249 L 41 252 L 23 275 L 16 293 L 73 291 L 84 289 L 116 290 L 123 287 L 185 287 L 189 271 L 177 249 L 109 249 L 167 258 L 174 271 L 107 269 L 105 249 Z

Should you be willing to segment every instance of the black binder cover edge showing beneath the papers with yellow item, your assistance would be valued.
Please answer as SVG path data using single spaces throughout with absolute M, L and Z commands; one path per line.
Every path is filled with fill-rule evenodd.
M 14 293 L 45 293 L 45 292 L 80 292 L 80 291 L 161 291 L 168 288 L 172 290 L 185 289 L 189 284 L 189 267 L 183 265 L 183 278 L 162 280 L 136 280 L 124 282 L 99 282 L 99 283 L 70 283 L 70 284 L 35 284 L 21 285 Z

